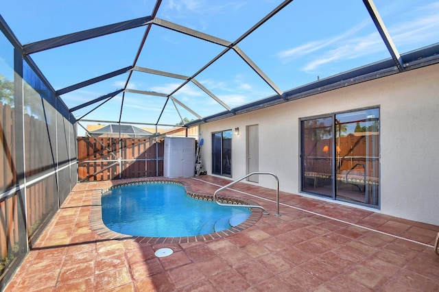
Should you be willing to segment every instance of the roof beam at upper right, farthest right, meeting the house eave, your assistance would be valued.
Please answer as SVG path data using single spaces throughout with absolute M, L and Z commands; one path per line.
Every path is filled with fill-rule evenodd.
M 375 26 L 377 27 L 379 34 L 381 35 L 381 38 L 385 43 L 385 47 L 387 47 L 387 49 L 389 50 L 390 56 L 392 56 L 396 68 L 398 68 L 398 71 L 400 73 L 403 72 L 404 71 L 403 60 L 399 55 L 399 52 L 396 49 L 396 46 L 394 45 L 394 42 L 390 37 L 387 28 L 384 25 L 383 19 L 381 19 L 381 16 L 379 15 L 377 7 L 375 6 L 372 0 L 363 0 L 363 3 L 370 14 L 370 17 L 372 18 L 373 23 L 375 23 Z

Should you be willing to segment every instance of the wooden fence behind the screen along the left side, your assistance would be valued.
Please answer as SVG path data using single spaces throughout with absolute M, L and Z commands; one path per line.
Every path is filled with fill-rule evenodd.
M 14 108 L 0 102 L 0 145 L 3 148 L 0 155 L 0 193 L 17 184 L 16 143 L 21 139 L 16 138 L 14 117 Z M 25 114 L 23 121 L 27 170 L 25 175 L 29 178 L 29 176 L 38 175 L 43 171 L 54 170 L 54 157 L 52 156 L 54 154 L 47 148 L 50 148 L 50 141 L 52 143 L 56 141 L 56 137 L 49 136 L 47 125 L 42 119 Z M 32 245 L 34 234 L 39 232 L 42 222 L 58 208 L 55 175 L 32 184 L 32 186 L 27 186 L 25 198 L 27 217 L 23 214 L 24 202 L 22 200 L 24 198 L 20 199 L 19 195 L 20 193 L 16 192 L 0 199 L 0 280 L 3 271 L 19 255 L 19 245 L 26 245 L 19 242 L 20 234 L 23 235 L 26 232 L 23 219 L 26 219 L 26 235 Z M 22 238 L 25 239 L 26 236 Z

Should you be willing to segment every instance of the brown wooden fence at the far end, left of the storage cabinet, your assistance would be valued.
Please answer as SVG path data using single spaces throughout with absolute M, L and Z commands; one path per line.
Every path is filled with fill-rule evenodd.
M 163 139 L 78 137 L 78 180 L 163 175 Z

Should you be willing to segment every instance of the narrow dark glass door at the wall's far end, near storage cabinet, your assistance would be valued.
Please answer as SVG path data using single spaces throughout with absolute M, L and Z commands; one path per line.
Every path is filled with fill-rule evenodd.
M 212 173 L 232 175 L 232 130 L 212 133 Z

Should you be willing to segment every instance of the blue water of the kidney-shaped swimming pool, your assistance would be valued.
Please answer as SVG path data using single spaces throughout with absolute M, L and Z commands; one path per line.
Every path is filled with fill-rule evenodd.
M 133 236 L 180 237 L 219 232 L 246 221 L 245 207 L 219 206 L 193 199 L 185 187 L 145 183 L 112 188 L 102 195 L 102 221 Z

